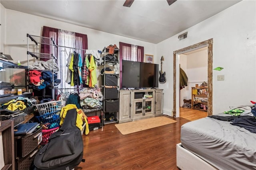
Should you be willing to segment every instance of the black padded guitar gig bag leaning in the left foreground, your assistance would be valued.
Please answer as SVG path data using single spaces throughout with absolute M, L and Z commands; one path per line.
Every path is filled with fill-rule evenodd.
M 82 134 L 76 127 L 76 116 L 76 109 L 68 110 L 62 127 L 38 152 L 34 159 L 38 170 L 70 170 L 84 162 Z

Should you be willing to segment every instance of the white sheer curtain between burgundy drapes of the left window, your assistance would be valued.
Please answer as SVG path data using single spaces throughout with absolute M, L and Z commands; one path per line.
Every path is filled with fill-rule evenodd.
M 58 34 L 58 45 L 76 48 L 76 38 L 74 32 L 59 29 Z M 65 80 L 68 70 L 67 59 L 69 54 L 73 51 L 74 50 L 70 48 L 58 47 L 58 65 L 60 67 L 58 78 L 61 79 L 61 83 L 58 86 L 59 88 L 71 88 L 70 84 L 66 83 Z

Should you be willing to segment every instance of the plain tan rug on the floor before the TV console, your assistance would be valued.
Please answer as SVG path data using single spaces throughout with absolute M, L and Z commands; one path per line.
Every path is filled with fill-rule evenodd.
M 116 124 L 115 126 L 122 133 L 122 135 L 127 135 L 130 133 L 143 131 L 146 129 L 151 129 L 151 128 L 159 127 L 163 125 L 168 125 L 175 122 L 177 121 L 170 119 L 168 117 L 158 116 L 158 117 L 152 117 L 148 119 L 120 123 L 120 124 Z

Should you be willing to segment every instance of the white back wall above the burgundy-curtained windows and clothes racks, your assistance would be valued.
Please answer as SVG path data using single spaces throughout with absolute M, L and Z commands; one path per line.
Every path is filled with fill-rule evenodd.
M 2 7 L 2 5 L 1 5 Z M 3 7 L 4 8 L 4 7 Z M 94 29 L 88 29 L 85 27 L 64 23 L 61 21 L 50 20 L 14 10 L 6 10 L 6 41 L 1 45 L 5 47 L 5 53 L 10 54 L 14 59 L 14 62 L 20 60 L 22 65 L 27 65 L 27 37 L 26 34 L 38 35 L 42 33 L 42 27 L 54 27 L 58 29 L 64 29 L 68 31 L 74 31 L 77 33 L 87 34 L 88 37 L 88 49 L 102 50 L 104 47 L 110 44 L 116 44 L 119 47 L 119 42 L 130 43 L 134 45 L 144 46 L 145 54 L 155 55 L 156 45 L 153 43 L 147 43 L 119 35 L 105 33 Z M 1 15 L 2 16 L 2 15 Z M 8 30 L 8 31 L 7 31 Z M 2 33 L 1 33 L 2 34 Z

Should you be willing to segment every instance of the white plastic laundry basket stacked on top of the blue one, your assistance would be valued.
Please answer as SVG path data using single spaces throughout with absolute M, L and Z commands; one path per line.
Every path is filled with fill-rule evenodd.
M 38 113 L 40 115 L 46 114 L 55 114 L 59 115 L 61 111 L 61 102 L 62 100 L 46 102 L 43 104 L 36 104 L 36 108 L 38 109 Z

